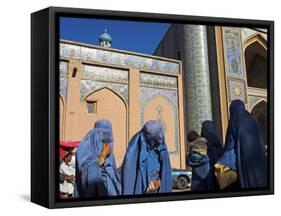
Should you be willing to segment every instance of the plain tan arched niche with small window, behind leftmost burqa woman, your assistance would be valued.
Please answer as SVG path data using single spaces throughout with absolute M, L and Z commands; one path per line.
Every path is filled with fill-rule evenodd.
M 114 155 L 120 166 L 127 147 L 127 105 L 123 98 L 109 88 L 92 92 L 83 100 L 83 134 L 99 119 L 112 123 Z

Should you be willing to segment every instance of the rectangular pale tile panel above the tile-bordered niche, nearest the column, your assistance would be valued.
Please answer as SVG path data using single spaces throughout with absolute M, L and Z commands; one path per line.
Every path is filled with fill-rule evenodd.
M 177 78 L 159 74 L 140 73 L 140 85 L 177 89 Z

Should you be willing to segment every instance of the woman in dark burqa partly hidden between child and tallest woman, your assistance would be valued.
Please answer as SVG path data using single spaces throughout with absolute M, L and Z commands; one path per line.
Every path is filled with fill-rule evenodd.
M 215 163 L 223 155 L 224 149 L 221 144 L 216 128 L 212 121 L 206 120 L 202 123 L 201 137 L 207 139 L 207 155 L 210 164 L 209 190 L 218 190 L 218 184 L 215 176 Z

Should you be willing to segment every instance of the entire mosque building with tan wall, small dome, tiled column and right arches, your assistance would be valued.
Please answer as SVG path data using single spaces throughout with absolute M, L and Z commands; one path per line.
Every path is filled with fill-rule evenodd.
M 267 129 L 267 34 L 264 29 L 172 24 L 153 55 L 60 41 L 60 140 L 81 141 L 98 119 L 112 122 L 120 166 L 127 144 L 158 119 L 173 168 L 186 168 L 190 130 L 213 120 L 221 140 L 229 105 L 244 101 Z

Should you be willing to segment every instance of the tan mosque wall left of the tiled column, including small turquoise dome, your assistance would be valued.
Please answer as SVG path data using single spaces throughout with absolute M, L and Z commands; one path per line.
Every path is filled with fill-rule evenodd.
M 157 119 L 164 129 L 173 167 L 185 167 L 181 61 L 100 46 L 60 41 L 60 140 L 81 141 L 99 119 L 113 126 L 120 166 L 132 136 Z

